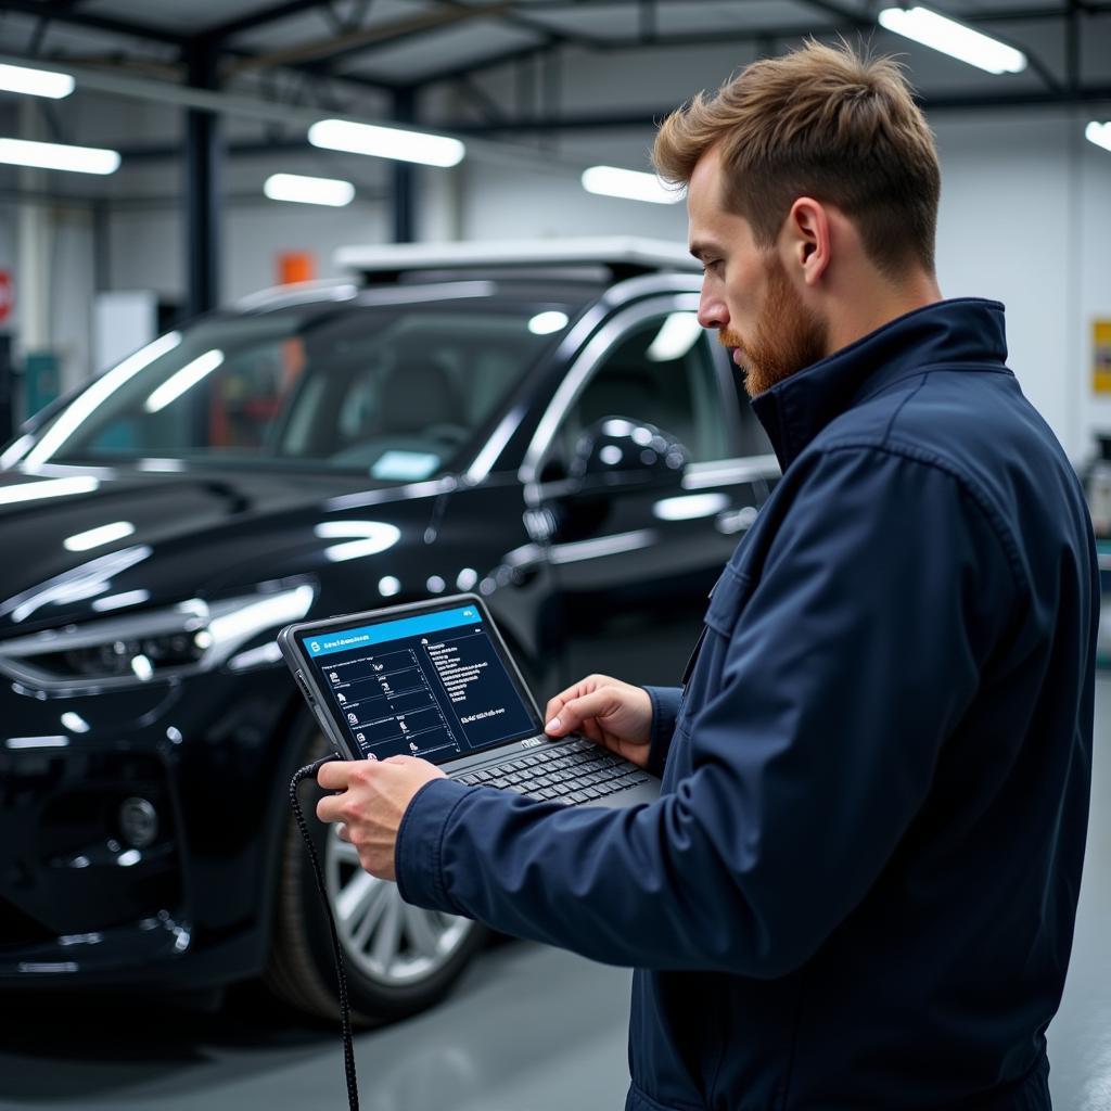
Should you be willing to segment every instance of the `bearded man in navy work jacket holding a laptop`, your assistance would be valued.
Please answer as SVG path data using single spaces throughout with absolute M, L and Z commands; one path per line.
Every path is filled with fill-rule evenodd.
M 629 1108 L 1048 1108 L 1099 597 L 1078 482 L 1002 306 L 940 298 L 893 63 L 757 62 L 655 159 L 783 469 L 684 690 L 549 703 L 662 797 L 563 809 L 398 758 L 324 767 L 319 814 L 411 902 L 633 965 Z

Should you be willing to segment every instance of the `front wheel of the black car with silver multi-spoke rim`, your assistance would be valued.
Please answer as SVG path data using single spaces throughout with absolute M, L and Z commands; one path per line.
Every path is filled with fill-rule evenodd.
M 324 739 L 313 734 L 303 762 L 326 751 Z M 316 784 L 302 784 L 301 809 L 343 949 L 352 1021 L 377 1025 L 427 1010 L 448 992 L 489 931 L 470 919 L 410 907 L 396 883 L 364 872 L 334 827 L 312 817 L 319 798 Z M 274 907 L 274 940 L 263 983 L 297 1010 L 334 1019 L 339 992 L 328 920 L 292 815 Z

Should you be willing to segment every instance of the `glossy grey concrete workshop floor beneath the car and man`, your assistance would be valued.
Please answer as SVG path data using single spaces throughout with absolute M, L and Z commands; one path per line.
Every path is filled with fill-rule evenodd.
M 1111 1111 L 1111 678 L 1069 982 L 1050 1028 L 1058 1111 Z M 433 1012 L 360 1034 L 367 1111 L 622 1107 L 629 973 L 538 945 L 484 953 Z M 216 1017 L 148 1003 L 4 1000 L 0 1111 L 322 1111 L 347 1107 L 339 1038 L 250 992 Z

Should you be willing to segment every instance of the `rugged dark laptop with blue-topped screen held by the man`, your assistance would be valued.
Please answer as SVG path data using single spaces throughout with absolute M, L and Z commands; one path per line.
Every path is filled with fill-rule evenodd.
M 474 594 L 289 625 L 278 643 L 347 759 L 420 757 L 461 783 L 563 805 L 632 807 L 659 797 L 654 775 L 589 738 L 544 733 Z

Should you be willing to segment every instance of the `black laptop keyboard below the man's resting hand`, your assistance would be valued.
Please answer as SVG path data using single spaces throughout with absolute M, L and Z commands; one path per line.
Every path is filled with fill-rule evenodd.
M 600 744 L 575 738 L 567 744 L 546 744 L 542 751 L 451 778 L 459 783 L 498 787 L 572 805 L 615 794 L 650 777 Z

